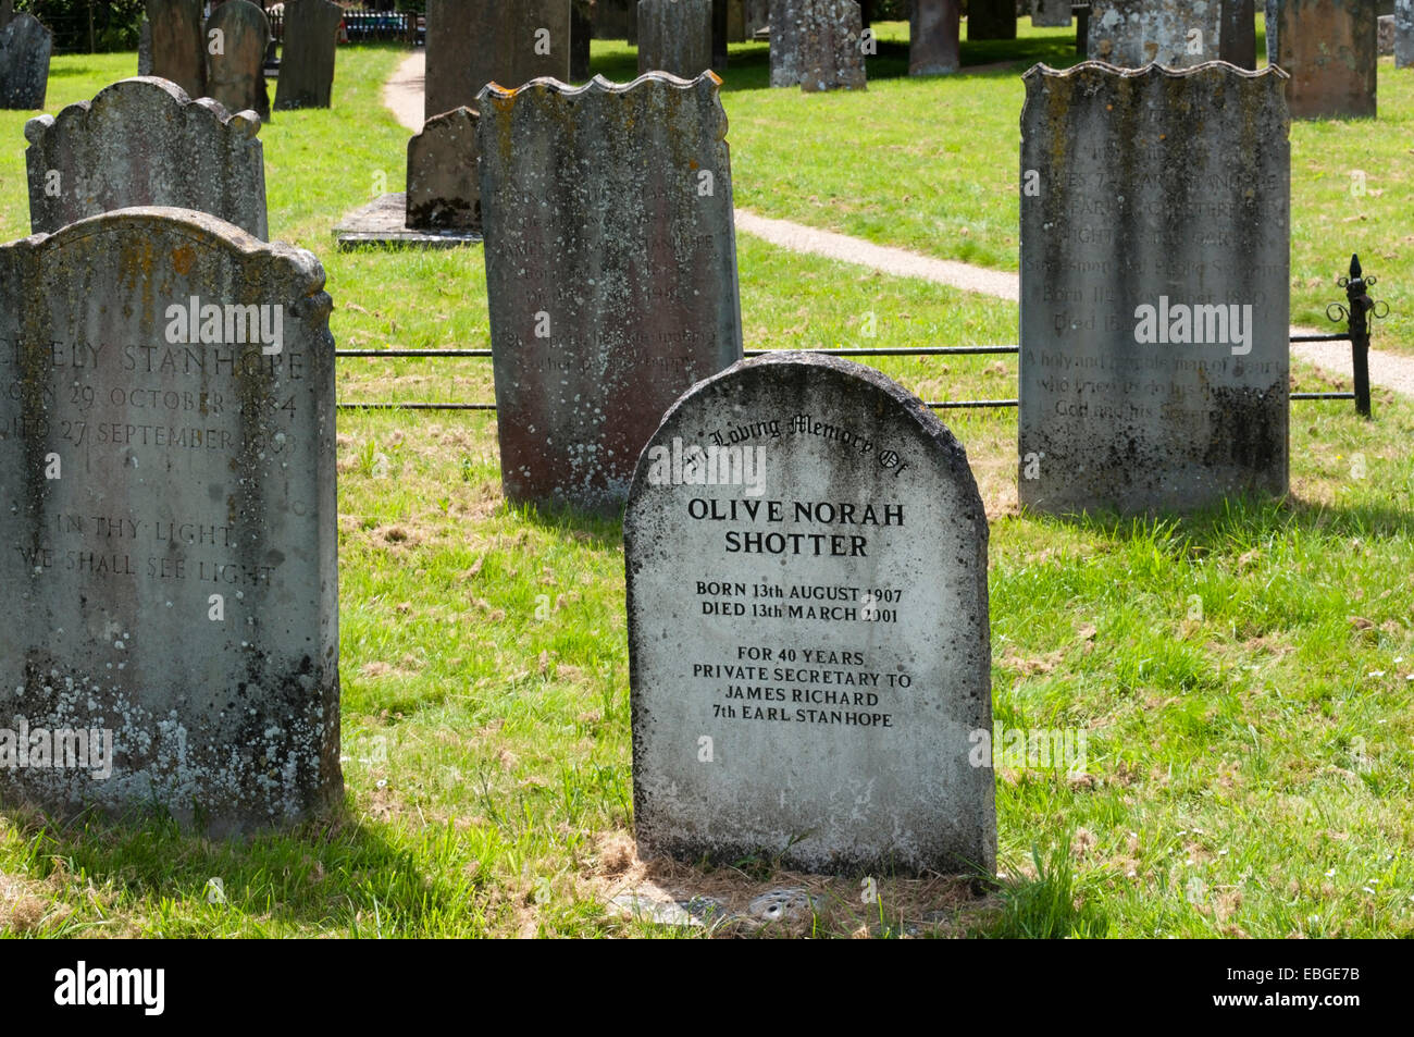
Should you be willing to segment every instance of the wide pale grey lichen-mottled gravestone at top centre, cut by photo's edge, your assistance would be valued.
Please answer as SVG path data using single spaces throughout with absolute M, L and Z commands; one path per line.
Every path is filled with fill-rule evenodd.
M 771 85 L 863 91 L 863 33 L 855 0 L 772 0 Z

